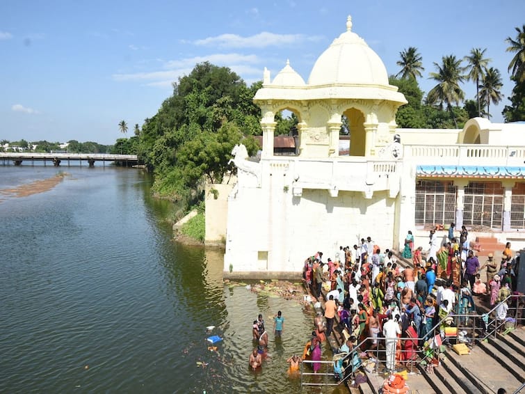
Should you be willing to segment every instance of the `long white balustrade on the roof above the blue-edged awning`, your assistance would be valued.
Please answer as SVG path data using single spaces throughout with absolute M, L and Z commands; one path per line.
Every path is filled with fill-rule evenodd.
M 524 146 L 403 145 L 405 160 L 416 164 L 524 166 Z

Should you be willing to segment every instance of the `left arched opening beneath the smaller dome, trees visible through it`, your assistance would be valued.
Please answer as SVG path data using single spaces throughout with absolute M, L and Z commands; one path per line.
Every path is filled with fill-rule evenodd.
M 291 108 L 275 113 L 275 136 L 273 138 L 273 155 L 296 156 L 299 152 L 300 133 L 298 112 Z

